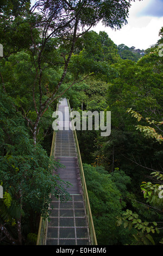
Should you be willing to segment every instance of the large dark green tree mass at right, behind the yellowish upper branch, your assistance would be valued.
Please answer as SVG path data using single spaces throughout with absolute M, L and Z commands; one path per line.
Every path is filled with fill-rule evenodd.
M 139 129 L 145 128 L 143 126 L 149 126 L 146 121 L 154 120 L 154 124 L 151 124 L 152 129 L 149 130 L 147 127 L 145 134 L 160 136 L 160 131 L 155 125 L 156 122 L 161 122 L 162 59 L 156 54 L 158 52 L 154 55 L 147 54 L 137 63 L 131 60 L 121 60 L 114 64 L 118 75 L 109 82 L 106 96 L 108 103 L 106 110 L 111 111 L 111 135 L 106 138 L 96 137 L 96 150 L 93 153 L 95 159 L 97 157 L 102 159 L 101 164 L 109 171 L 115 167 L 121 167 L 128 174 L 131 173 L 134 178 L 133 183 L 141 178 L 142 169 L 134 166 L 127 159 L 139 159 L 140 163 L 145 162 L 146 165 L 151 163 L 154 169 L 157 168 L 157 161 L 160 166 L 162 164 L 161 157 L 156 161 L 153 157 L 154 154 L 161 154 L 162 149 L 159 145 L 155 145 L 152 139 L 147 141 L 143 138 L 143 133 L 139 132 Z M 127 109 L 132 109 L 135 120 L 127 116 Z M 137 126 L 135 130 L 137 120 L 141 120 L 142 126 Z M 161 136 L 158 139 L 161 140 Z M 134 160 L 134 162 L 137 161 Z M 140 175 L 136 177 L 139 172 Z

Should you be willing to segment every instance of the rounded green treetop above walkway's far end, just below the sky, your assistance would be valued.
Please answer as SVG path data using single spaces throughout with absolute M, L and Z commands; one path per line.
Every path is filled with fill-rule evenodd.
M 119 59 L 117 48 L 105 32 L 87 32 L 72 55 L 69 70 L 75 77 L 91 74 L 96 79 L 108 81 L 115 76 L 111 64 Z

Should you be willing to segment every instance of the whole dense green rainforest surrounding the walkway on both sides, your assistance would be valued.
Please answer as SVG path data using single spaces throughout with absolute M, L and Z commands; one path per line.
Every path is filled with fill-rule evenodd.
M 35 244 L 49 193 L 69 196 L 50 157 L 60 97 L 79 112 L 111 111 L 110 136 L 77 131 L 98 245 L 163 243 L 162 28 L 145 50 L 91 30 L 99 21 L 121 28 L 129 7 L 1 1 L 1 245 Z

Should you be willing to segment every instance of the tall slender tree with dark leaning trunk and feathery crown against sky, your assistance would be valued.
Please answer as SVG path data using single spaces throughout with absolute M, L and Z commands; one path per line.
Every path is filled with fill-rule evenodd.
M 64 0 L 38 1 L 34 7 L 32 7 L 32 11 L 37 8 L 43 17 L 43 20 L 37 22 L 43 29 L 41 47 L 39 47 L 40 51 L 37 58 L 37 70 L 39 71 L 40 77 L 39 88 L 41 94 L 41 59 L 46 43 L 52 37 L 56 38 L 56 36 L 57 38 L 60 38 L 61 45 L 64 42 L 64 52 L 62 52 L 62 62 L 64 63 L 63 72 L 51 97 L 42 102 L 42 97 L 40 95 L 40 109 L 36 111 L 37 118 L 33 127 L 34 141 L 36 141 L 36 130 L 39 120 L 47 110 L 48 106 L 56 99 L 56 93 L 66 77 L 68 64 L 70 63 L 77 39 L 100 20 L 102 20 L 104 25 L 110 26 L 111 28 L 121 28 L 122 24 L 126 22 L 129 6 L 130 4 L 126 1 L 123 1 L 123 3 L 117 3 L 117 1 L 104 1 L 103 3 L 99 3 L 98 1 L 87 2 L 84 0 L 82 2 L 77 1 L 76 3 L 73 3 Z M 114 11 L 115 9 L 116 12 Z M 78 33 L 79 29 L 82 29 L 82 32 Z M 50 31 L 49 34 L 48 31 Z M 76 77 L 74 78 L 76 80 Z M 74 81 L 72 84 L 74 84 Z

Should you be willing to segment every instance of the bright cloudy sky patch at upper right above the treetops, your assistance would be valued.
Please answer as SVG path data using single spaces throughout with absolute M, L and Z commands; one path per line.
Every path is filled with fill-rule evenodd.
M 163 0 L 135 0 L 131 2 L 128 24 L 120 30 L 97 25 L 93 31 L 105 31 L 116 45 L 146 50 L 160 39 L 159 31 L 163 27 Z

